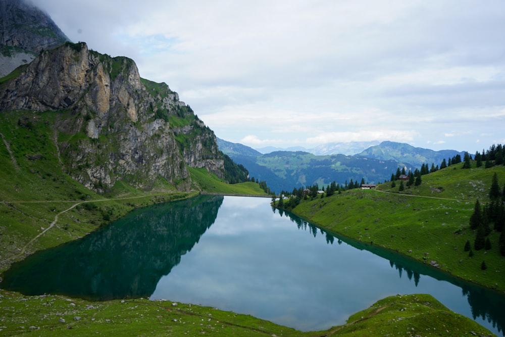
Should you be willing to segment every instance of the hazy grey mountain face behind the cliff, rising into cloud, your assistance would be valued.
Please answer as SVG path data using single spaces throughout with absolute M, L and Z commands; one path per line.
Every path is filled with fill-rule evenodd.
M 0 77 L 68 37 L 44 12 L 23 0 L 0 0 Z

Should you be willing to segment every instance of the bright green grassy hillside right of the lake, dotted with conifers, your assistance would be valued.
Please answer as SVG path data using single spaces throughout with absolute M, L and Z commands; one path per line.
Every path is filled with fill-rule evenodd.
M 463 170 L 461 166 L 425 175 L 420 186 L 406 188 L 405 194 L 397 193 L 398 183 L 394 188 L 385 183 L 377 190 L 353 189 L 302 202 L 293 212 L 336 233 L 437 264 L 452 275 L 503 292 L 505 258 L 498 251 L 499 233 L 491 232 L 489 251 L 474 250 L 469 257 L 463 248 L 467 240 L 473 246 L 475 239 L 475 231 L 469 228 L 475 200 L 488 201 L 495 172 L 503 186 L 505 167 Z M 439 187 L 441 192 L 432 191 Z M 482 261 L 487 270 L 480 269 Z

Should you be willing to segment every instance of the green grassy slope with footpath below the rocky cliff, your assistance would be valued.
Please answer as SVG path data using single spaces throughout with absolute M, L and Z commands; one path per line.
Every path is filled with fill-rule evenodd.
M 105 195 L 96 194 L 63 170 L 55 139 L 65 135 L 52 128 L 58 116 L 56 112 L 0 114 L 0 271 L 27 254 L 81 237 L 134 208 L 195 193 L 178 192 L 159 178 L 150 191 L 118 181 Z M 206 169 L 191 169 L 191 174 L 195 191 L 265 194 L 258 184 L 226 184 Z

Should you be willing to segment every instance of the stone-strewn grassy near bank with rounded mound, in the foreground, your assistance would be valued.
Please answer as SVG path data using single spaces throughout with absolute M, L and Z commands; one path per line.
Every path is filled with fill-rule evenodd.
M 300 332 L 249 315 L 190 304 L 129 299 L 88 302 L 61 296 L 26 297 L 0 290 L 4 335 L 33 331 L 53 335 L 219 336 L 423 336 L 492 335 L 474 321 L 449 311 L 430 295 L 392 296 L 327 331 Z M 63 320 L 62 320 L 63 319 Z

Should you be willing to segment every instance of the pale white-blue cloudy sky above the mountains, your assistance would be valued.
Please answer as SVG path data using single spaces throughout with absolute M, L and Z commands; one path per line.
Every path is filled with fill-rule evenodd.
M 503 0 L 36 0 L 253 148 L 505 143 Z

